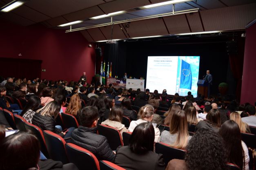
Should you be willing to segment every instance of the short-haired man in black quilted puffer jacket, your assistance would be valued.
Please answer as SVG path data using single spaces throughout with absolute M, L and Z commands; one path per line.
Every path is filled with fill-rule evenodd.
M 98 109 L 84 107 L 79 114 L 80 126 L 71 135 L 71 143 L 93 153 L 98 160 L 114 161 L 115 154 L 107 143 L 107 138 L 97 134 Z

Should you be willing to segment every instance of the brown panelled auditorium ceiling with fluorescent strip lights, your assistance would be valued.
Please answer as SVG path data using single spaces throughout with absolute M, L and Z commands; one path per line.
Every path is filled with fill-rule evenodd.
M 132 20 L 150 15 L 172 12 L 173 5 L 138 9 L 166 0 L 27 0 L 22 6 L 0 13 L 0 18 L 22 26 L 40 23 L 47 28 L 68 30 L 60 24 L 82 20 L 72 25 L 81 28 L 111 22 L 110 17 L 90 20 L 90 17 L 125 10 L 127 13 L 113 16 L 113 21 Z M 0 0 L 0 7 L 11 0 Z M 116 24 L 112 39 L 128 39 L 154 35 L 173 35 L 203 31 L 243 30 L 256 18 L 255 0 L 193 0 L 175 4 L 174 11 L 198 8 L 198 12 L 157 17 Z M 128 24 L 128 26 L 127 26 Z M 89 28 L 80 31 L 88 41 L 111 39 L 111 26 Z

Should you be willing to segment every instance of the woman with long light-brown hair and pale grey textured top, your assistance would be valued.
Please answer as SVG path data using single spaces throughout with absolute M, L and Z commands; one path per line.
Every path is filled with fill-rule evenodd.
M 170 121 L 170 131 L 163 131 L 160 142 L 179 149 L 185 149 L 191 139 L 187 131 L 187 116 L 185 111 L 177 110 L 173 113 Z

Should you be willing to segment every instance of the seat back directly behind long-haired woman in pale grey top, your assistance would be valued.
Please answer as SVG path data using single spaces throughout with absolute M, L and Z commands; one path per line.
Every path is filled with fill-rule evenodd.
M 156 153 L 163 154 L 165 165 L 171 159 L 184 159 L 186 150 L 177 149 L 164 143 L 156 143 Z

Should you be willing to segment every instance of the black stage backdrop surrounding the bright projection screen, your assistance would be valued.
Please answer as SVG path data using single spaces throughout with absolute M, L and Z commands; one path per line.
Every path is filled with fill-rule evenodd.
M 236 79 L 232 74 L 227 53 L 226 42 L 229 39 L 118 41 L 118 44 L 105 45 L 104 59 L 112 61 L 114 76 L 122 76 L 127 72 L 128 76 L 143 76 L 146 79 L 148 56 L 200 56 L 198 78 L 203 79 L 206 70 L 210 70 L 213 75 L 211 94 L 219 93 L 218 85 L 222 82 L 229 83 L 229 94 L 235 94 Z

